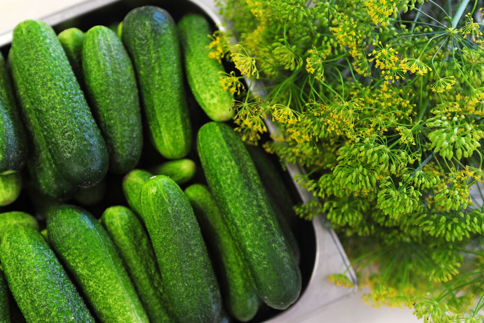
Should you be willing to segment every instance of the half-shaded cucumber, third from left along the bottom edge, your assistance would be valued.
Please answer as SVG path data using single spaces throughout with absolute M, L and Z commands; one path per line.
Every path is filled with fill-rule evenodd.
M 124 261 L 151 322 L 172 322 L 163 306 L 162 280 L 150 237 L 136 215 L 112 206 L 100 219 Z

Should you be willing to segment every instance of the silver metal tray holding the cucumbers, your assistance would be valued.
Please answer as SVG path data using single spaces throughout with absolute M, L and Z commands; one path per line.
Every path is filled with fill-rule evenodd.
M 220 27 L 222 18 L 217 14 L 218 9 L 213 0 L 87 0 L 40 20 L 53 26 L 58 32 L 69 27 L 90 28 L 96 24 L 121 21 L 129 10 L 142 5 L 160 6 L 168 10 L 175 19 L 187 12 L 198 12 L 209 17 L 214 25 L 223 28 Z M 82 26 L 79 26 L 79 23 Z M 84 31 L 86 30 L 84 28 Z M 6 50 L 11 41 L 12 31 L 1 33 L 0 49 Z M 277 130 L 271 121 L 266 124 L 270 133 Z M 311 200 L 312 193 L 298 186 L 293 180 L 295 175 L 305 173 L 305 170 L 299 165 L 287 164 L 286 166 L 300 200 L 303 202 Z M 324 215 L 318 215 L 312 221 L 312 230 L 311 227 L 309 228 L 309 232 L 304 234 L 314 233 L 312 241 L 315 246 L 310 249 L 315 250 L 315 255 L 314 267 L 312 273 L 307 275 L 305 289 L 295 304 L 284 311 L 270 312 L 269 315 L 272 317 L 263 321 L 264 323 L 295 323 L 309 320 L 316 313 L 347 298 L 357 290 L 356 275 L 351 268 L 347 271 L 347 276 L 354 282 L 354 288 L 338 287 L 328 281 L 329 275 L 345 271 L 349 261 L 336 233 L 326 223 Z M 266 319 L 267 316 L 268 314 L 260 317 L 259 321 Z

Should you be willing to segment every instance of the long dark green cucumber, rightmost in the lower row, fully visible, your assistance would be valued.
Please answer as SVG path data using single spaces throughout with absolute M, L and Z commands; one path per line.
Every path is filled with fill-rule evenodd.
M 198 131 L 197 147 L 257 295 L 272 308 L 287 308 L 301 293 L 301 271 L 241 138 L 227 124 L 210 122 Z

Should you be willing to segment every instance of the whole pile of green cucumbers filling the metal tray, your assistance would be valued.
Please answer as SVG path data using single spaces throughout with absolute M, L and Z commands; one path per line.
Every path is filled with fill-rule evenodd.
M 23 183 L 36 212 L 0 208 L 0 323 L 248 322 L 298 299 L 291 197 L 224 123 L 233 98 L 211 33 L 201 15 L 177 25 L 154 6 L 117 32 L 15 27 L 0 55 L 0 207 Z M 212 120 L 199 129 L 185 81 Z M 167 160 L 148 170 L 135 169 L 143 132 Z M 107 172 L 124 206 L 94 217 L 67 204 L 102 201 Z

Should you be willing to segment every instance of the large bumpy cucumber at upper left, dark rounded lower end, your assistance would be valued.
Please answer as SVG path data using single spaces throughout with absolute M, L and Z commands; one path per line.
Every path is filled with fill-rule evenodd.
M 9 60 L 30 134 L 42 134 L 66 180 L 81 186 L 99 182 L 107 171 L 106 144 L 55 32 L 44 22 L 21 22 Z

